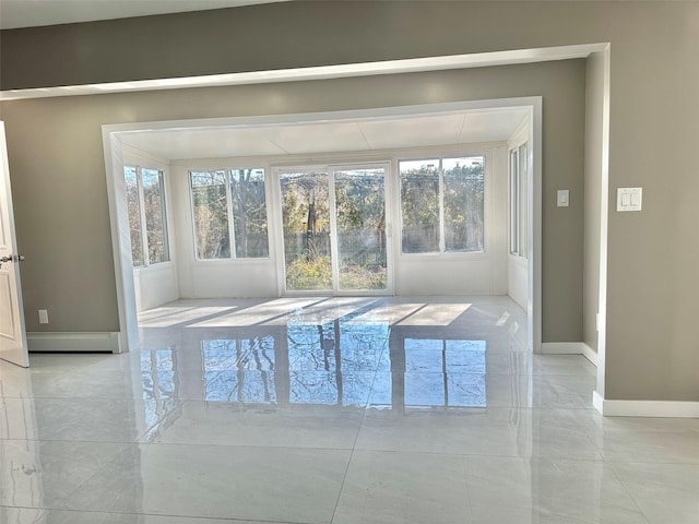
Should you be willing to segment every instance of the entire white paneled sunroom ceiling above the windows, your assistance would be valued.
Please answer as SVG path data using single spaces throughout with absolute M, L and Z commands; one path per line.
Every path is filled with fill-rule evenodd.
M 523 108 L 275 126 L 120 133 L 121 143 L 165 159 L 371 152 L 508 140 Z

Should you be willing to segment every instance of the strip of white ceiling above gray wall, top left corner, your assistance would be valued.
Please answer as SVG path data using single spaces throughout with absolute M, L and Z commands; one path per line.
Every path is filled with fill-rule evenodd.
M 284 0 L 0 0 L 0 29 L 237 8 Z

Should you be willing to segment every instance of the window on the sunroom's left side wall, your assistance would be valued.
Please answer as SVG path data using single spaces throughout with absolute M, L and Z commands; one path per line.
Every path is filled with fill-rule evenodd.
M 170 260 L 163 171 L 125 166 L 127 209 L 134 267 Z

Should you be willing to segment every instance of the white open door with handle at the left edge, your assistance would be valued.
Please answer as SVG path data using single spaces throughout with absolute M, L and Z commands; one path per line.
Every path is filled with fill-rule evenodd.
M 14 235 L 12 192 L 4 122 L 0 121 L 0 358 L 27 368 L 29 355 L 26 347 L 20 260 Z

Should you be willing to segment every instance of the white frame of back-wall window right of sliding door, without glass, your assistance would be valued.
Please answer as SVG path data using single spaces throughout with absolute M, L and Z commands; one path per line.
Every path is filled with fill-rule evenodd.
M 431 154 L 430 154 L 431 153 Z M 483 160 L 483 249 L 478 251 L 465 251 L 465 250 L 447 250 L 447 238 L 446 238 L 446 210 L 445 210 L 445 168 L 443 160 L 445 159 L 455 159 L 455 158 L 482 158 Z M 420 160 L 438 160 L 438 180 L 439 180 L 439 210 L 438 210 L 438 219 L 439 219 L 439 242 L 438 249 L 436 251 L 425 251 L 425 252 L 406 252 L 403 250 L 403 198 L 402 198 L 402 175 L 401 175 L 401 163 L 402 162 L 420 162 Z M 488 198 L 489 198 L 489 184 L 490 184 L 490 175 L 489 175 L 489 166 L 491 164 L 491 158 L 489 154 L 489 150 L 476 150 L 476 151 L 449 151 L 449 152 L 440 152 L 440 151 L 426 151 L 425 154 L 420 156 L 399 156 L 395 163 L 395 179 L 398 184 L 398 218 L 399 218 L 399 255 L 400 257 L 478 257 L 484 255 L 488 252 L 488 222 L 489 213 L 488 213 Z

